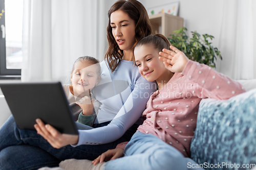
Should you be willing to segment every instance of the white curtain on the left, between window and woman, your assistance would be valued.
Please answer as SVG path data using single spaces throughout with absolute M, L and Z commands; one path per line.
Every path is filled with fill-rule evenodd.
M 22 81 L 69 83 L 74 61 L 107 48 L 104 0 L 24 0 Z

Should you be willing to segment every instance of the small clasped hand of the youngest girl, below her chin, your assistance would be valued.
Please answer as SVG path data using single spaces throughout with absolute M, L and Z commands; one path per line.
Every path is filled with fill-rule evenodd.
M 93 114 L 94 100 L 91 101 L 89 96 L 84 96 L 82 99 L 76 102 L 76 104 L 81 107 L 83 115 L 89 116 Z

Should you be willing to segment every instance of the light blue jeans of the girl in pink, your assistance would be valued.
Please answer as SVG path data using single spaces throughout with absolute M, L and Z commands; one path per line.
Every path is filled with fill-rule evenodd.
M 152 134 L 137 131 L 124 148 L 124 157 L 106 162 L 104 170 L 184 170 L 196 164 L 177 149 Z M 195 168 L 196 169 L 196 168 Z M 198 168 L 202 169 L 202 168 Z

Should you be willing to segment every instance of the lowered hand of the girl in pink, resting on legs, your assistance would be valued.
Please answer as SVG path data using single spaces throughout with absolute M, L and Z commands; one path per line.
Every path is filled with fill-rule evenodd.
M 123 157 L 123 149 L 122 148 L 116 148 L 113 150 L 108 150 L 101 154 L 98 158 L 93 160 L 93 164 L 96 165 L 97 163 L 102 163 L 104 160 L 109 161 L 116 158 Z

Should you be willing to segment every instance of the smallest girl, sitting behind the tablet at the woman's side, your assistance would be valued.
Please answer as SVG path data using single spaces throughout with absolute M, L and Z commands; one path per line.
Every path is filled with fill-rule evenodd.
M 71 71 L 72 84 L 62 85 L 72 114 L 81 124 L 90 126 L 98 113 L 99 102 L 95 101 L 91 91 L 99 83 L 100 74 L 99 60 L 90 56 L 79 57 Z

